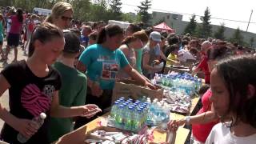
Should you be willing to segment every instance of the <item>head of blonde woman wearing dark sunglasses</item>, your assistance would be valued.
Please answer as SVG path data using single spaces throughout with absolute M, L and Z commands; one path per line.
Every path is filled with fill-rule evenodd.
M 70 3 L 57 2 L 52 8 L 52 13 L 46 18 L 45 22 L 53 23 L 62 30 L 70 27 L 72 21 L 73 8 Z

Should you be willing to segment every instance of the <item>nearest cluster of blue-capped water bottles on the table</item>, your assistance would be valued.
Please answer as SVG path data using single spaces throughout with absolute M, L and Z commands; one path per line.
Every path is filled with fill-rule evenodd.
M 122 130 L 138 132 L 144 126 L 155 126 L 169 121 L 170 109 L 166 104 L 150 98 L 143 101 L 119 98 L 114 102 L 110 111 L 112 125 Z

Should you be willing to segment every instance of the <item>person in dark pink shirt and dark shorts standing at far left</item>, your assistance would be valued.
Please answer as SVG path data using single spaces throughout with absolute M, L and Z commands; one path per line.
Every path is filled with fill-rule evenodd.
M 7 61 L 8 54 L 10 52 L 10 48 L 14 48 L 14 60 L 13 62 L 17 62 L 17 54 L 18 54 L 18 42 L 20 38 L 20 34 L 22 31 L 22 22 L 23 22 L 23 11 L 22 9 L 18 9 L 16 11 L 16 15 L 11 15 L 11 26 L 10 32 L 7 37 L 7 46 L 6 46 L 6 55 L 5 60 Z

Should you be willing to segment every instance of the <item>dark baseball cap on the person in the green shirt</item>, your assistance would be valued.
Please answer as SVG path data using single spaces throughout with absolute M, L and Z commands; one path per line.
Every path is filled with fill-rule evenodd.
M 80 39 L 77 34 L 70 30 L 63 31 L 65 38 L 65 46 L 63 52 L 75 54 L 81 50 Z

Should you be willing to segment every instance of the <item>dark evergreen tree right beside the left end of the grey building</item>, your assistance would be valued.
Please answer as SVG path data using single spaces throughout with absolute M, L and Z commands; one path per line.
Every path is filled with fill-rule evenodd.
M 148 10 L 150 9 L 151 1 L 145 0 L 141 2 L 141 6 L 138 6 L 138 21 L 142 21 L 148 25 L 150 21 L 151 14 L 149 14 Z

